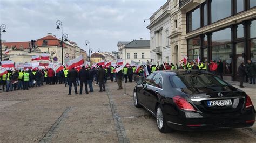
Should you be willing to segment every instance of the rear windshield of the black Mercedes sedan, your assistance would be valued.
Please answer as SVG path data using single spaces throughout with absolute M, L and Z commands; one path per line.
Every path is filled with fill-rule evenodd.
M 210 74 L 185 74 L 171 76 L 170 80 L 176 88 L 196 88 L 208 86 L 227 86 L 226 82 Z

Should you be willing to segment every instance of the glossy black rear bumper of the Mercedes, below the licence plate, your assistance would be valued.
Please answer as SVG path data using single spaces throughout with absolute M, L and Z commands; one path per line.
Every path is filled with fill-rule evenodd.
M 255 113 L 246 112 L 242 115 L 180 117 L 166 115 L 167 125 L 180 131 L 218 130 L 225 128 L 242 128 L 253 126 Z

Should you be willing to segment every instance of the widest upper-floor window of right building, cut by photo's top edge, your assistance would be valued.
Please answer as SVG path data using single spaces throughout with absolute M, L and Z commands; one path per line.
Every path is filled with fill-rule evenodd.
M 253 0 L 255 1 L 255 0 Z M 231 16 L 231 0 L 214 0 L 211 3 L 212 23 Z

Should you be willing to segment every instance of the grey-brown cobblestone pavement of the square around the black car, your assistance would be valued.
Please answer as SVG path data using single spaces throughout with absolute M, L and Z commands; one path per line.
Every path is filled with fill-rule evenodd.
M 126 84 L 129 95 L 116 82 L 88 95 L 68 95 L 64 85 L 2 92 L 0 142 L 255 142 L 255 127 L 160 133 L 153 116 L 134 107 L 134 85 Z

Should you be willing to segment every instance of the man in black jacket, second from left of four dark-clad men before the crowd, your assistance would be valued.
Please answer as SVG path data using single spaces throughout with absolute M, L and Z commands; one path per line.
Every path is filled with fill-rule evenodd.
M 83 85 L 85 86 L 85 92 L 88 94 L 88 88 L 87 88 L 87 81 L 89 78 L 89 72 L 85 69 L 85 66 L 82 67 L 82 69 L 79 71 L 78 78 L 80 80 L 80 93 L 83 92 Z

